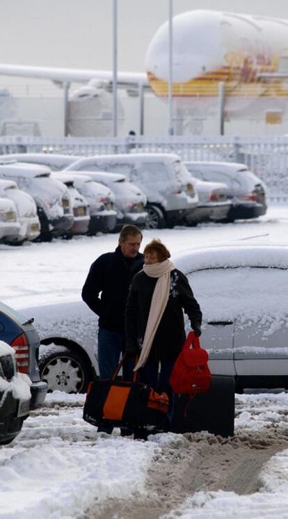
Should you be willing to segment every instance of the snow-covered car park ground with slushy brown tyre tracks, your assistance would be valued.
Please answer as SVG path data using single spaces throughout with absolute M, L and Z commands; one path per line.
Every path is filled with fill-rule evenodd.
M 173 255 L 225 243 L 288 244 L 288 208 L 255 221 L 145 231 Z M 79 299 L 117 235 L 0 246 L 1 300 L 14 308 Z M 281 297 L 281 294 L 279 294 Z M 233 438 L 97 433 L 84 395 L 54 392 L 0 449 L 0 518 L 288 518 L 288 394 L 236 397 Z

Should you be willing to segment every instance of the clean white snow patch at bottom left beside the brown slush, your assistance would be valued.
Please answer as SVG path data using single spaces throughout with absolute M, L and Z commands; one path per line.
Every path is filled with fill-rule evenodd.
M 0 517 L 83 517 L 88 506 L 143 493 L 156 449 L 125 438 L 99 438 L 95 445 L 56 438 L 49 445 L 39 443 L 1 466 Z

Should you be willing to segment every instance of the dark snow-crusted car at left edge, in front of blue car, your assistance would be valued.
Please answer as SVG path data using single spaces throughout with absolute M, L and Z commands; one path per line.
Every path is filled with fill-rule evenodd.
M 15 351 L 0 340 L 0 445 L 12 442 L 29 415 L 31 380 L 17 372 Z

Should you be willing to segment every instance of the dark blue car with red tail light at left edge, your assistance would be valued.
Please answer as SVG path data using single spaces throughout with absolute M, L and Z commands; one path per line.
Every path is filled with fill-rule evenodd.
M 12 346 L 19 373 L 26 374 L 31 379 L 30 410 L 41 407 L 47 393 L 47 384 L 40 380 L 40 338 L 33 326 L 33 318 L 26 319 L 18 310 L 0 302 L 0 341 Z

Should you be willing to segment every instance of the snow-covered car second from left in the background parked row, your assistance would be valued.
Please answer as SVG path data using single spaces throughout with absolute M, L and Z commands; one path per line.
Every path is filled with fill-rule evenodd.
M 18 189 L 16 182 L 13 180 L 0 179 L 0 196 L 13 200 L 17 209 L 17 221 L 20 224 L 19 233 L 15 237 L 11 237 L 11 241 L 22 243 L 25 240 L 36 239 L 40 234 L 40 221 L 35 200 L 31 195 L 25 193 L 22 189 Z

